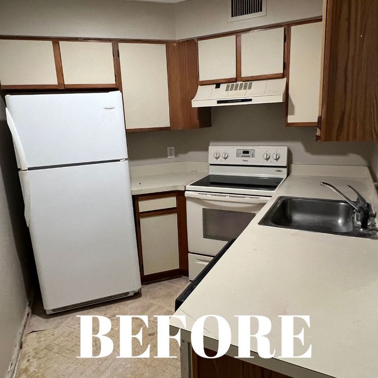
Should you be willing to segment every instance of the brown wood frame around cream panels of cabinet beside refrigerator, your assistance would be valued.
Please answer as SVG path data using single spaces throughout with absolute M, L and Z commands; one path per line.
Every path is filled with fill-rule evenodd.
M 167 209 L 152 210 L 146 212 L 139 211 L 140 200 L 150 200 L 165 197 L 175 197 L 176 207 L 169 207 Z M 136 221 L 136 232 L 138 241 L 138 255 L 139 255 L 139 268 L 141 280 L 145 282 L 154 282 L 168 278 L 175 278 L 188 275 L 188 246 L 187 246 L 187 229 L 186 229 L 186 200 L 184 192 L 171 191 L 164 193 L 143 194 L 134 196 L 134 211 Z M 143 271 L 143 251 L 142 251 L 142 234 L 140 219 L 143 217 L 158 216 L 164 214 L 177 214 L 177 231 L 179 240 L 179 269 L 169 270 L 165 272 L 158 272 L 153 274 L 144 275 Z

